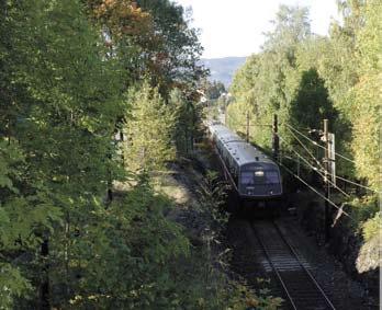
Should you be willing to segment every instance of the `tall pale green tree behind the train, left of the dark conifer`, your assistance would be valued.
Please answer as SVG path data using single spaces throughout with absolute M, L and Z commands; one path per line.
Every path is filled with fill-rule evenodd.
M 290 123 L 291 102 L 301 80 L 296 55 L 308 35 L 307 10 L 281 5 L 263 50 L 248 57 L 235 72 L 228 124 L 244 131 L 248 111 L 250 136 L 261 147 L 270 147 L 271 131 L 261 125 L 271 124 L 273 114 L 278 114 L 280 123 Z M 290 135 L 283 127 L 279 131 L 288 148 Z

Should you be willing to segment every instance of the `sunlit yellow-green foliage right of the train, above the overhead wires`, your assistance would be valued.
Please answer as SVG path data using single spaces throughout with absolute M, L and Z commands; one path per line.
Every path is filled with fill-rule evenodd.
M 258 125 L 270 124 L 273 113 L 305 134 L 327 118 L 336 151 L 356 162 L 338 159 L 337 172 L 367 177 L 378 190 L 382 23 L 377 2 L 341 1 L 344 25 L 333 23 L 330 37 L 311 34 L 306 9 L 280 7 L 263 50 L 235 73 L 228 125 L 244 131 L 248 111 L 250 136 L 267 147 L 270 131 Z M 295 146 L 283 126 L 279 133 L 283 149 Z

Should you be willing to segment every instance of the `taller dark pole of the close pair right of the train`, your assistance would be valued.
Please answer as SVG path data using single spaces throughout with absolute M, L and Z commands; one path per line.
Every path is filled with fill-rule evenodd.
M 325 191 L 325 210 L 324 210 L 324 225 L 325 225 L 325 242 L 329 241 L 330 217 L 329 217 L 329 133 L 328 133 L 328 119 L 324 119 L 324 136 L 325 141 L 325 177 L 324 177 L 324 191 Z

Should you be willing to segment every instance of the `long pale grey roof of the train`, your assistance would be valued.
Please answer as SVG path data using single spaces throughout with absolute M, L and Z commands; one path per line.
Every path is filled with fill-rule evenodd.
M 238 165 L 244 165 L 255 162 L 273 163 L 262 151 L 252 145 L 244 141 L 237 134 L 233 133 L 226 126 L 211 125 L 211 133 L 214 133 L 218 139 L 224 143 L 227 151 L 235 159 Z

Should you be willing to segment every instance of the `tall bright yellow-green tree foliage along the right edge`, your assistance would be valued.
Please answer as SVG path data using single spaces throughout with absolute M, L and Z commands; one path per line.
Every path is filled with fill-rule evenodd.
M 364 25 L 356 33 L 356 59 L 359 82 L 353 85 L 350 117 L 353 125 L 352 150 L 359 176 L 367 177 L 374 190 L 380 188 L 380 115 L 381 115 L 381 53 L 382 7 L 379 1 L 367 1 L 359 13 Z

